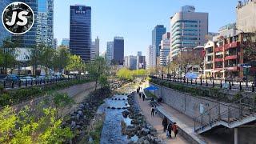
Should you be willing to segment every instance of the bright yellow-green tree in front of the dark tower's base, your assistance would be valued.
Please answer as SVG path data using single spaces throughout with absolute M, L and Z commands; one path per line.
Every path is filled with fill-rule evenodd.
M 82 58 L 78 55 L 68 54 L 66 70 L 68 71 L 78 71 L 81 73 L 86 67 Z

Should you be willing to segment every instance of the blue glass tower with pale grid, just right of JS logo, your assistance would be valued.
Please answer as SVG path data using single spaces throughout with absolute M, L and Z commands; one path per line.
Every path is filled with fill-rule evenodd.
M 38 0 L 37 44 L 54 48 L 54 0 Z

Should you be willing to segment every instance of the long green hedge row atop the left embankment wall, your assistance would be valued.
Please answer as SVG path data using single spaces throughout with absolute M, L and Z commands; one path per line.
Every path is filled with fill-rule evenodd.
M 78 79 L 68 82 L 58 82 L 47 86 L 33 86 L 30 88 L 22 88 L 18 90 L 2 90 L 0 94 L 0 106 L 14 105 L 19 102 L 24 102 L 31 98 L 37 98 L 51 90 L 61 90 L 69 86 L 74 86 L 86 82 L 91 82 L 90 79 Z

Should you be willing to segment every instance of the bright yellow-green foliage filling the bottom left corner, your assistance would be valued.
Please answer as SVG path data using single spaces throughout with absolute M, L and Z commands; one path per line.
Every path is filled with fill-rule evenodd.
M 26 106 L 15 113 L 10 107 L 0 112 L 0 143 L 62 143 L 73 138 L 69 128 L 62 128 L 62 119 L 55 118 L 56 110 L 42 109 L 40 117 Z

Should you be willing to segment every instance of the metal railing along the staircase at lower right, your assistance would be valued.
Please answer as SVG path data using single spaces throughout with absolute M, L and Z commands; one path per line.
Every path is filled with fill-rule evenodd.
M 233 122 L 241 122 L 255 113 L 255 97 L 246 96 L 231 104 L 218 103 L 194 118 L 194 131 L 203 130 L 206 126 L 212 126 L 216 122 L 225 122 L 230 126 Z

